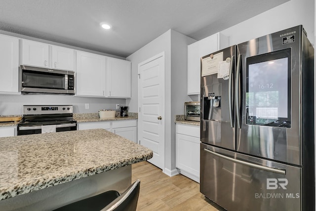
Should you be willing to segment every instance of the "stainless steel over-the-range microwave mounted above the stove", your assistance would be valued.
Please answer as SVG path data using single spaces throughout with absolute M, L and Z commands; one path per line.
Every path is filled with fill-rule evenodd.
M 20 66 L 22 94 L 75 94 L 75 72 Z

